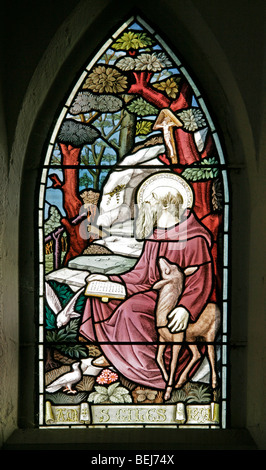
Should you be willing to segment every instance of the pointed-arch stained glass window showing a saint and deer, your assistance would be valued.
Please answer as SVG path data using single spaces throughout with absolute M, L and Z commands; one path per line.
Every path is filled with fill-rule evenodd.
M 57 117 L 38 221 L 39 427 L 225 428 L 225 159 L 183 61 L 139 16 Z

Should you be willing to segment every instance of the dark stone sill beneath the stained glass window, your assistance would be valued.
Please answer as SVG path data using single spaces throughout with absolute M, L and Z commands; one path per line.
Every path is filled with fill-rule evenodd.
M 18 429 L 1 450 L 259 450 L 246 429 Z

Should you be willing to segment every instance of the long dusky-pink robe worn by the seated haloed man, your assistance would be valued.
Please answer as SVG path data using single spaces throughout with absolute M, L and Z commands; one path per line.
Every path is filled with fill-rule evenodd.
M 211 243 L 210 232 L 189 212 L 185 221 L 171 229 L 154 231 L 144 242 L 142 255 L 131 271 L 110 276 L 111 280 L 125 284 L 126 300 L 102 303 L 97 298 L 88 298 L 80 332 L 89 341 L 99 344 L 105 357 L 124 377 L 147 387 L 165 388 L 156 362 L 158 334 L 155 308 L 158 294 L 152 286 L 160 279 L 157 260 L 163 256 L 182 268 L 199 267 L 186 278 L 177 304 L 185 307 L 190 313 L 190 320 L 195 321 L 206 306 L 213 288 Z M 184 346 L 176 379 L 187 364 L 189 354 Z M 170 347 L 165 356 L 169 363 Z

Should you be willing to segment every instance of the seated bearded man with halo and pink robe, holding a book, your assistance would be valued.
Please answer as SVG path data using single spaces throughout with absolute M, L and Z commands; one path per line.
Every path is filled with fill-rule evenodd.
M 165 258 L 181 269 L 195 266 L 185 279 L 177 305 L 169 314 L 172 333 L 184 331 L 195 322 L 212 294 L 212 236 L 193 213 L 193 194 L 178 175 L 161 172 L 149 177 L 138 191 L 136 238 L 143 239 L 142 253 L 136 265 L 121 275 L 92 274 L 88 280 L 101 279 L 123 283 L 125 300 L 103 303 L 88 297 L 80 333 L 102 350 L 96 365 L 111 364 L 124 377 L 141 386 L 163 390 L 165 380 L 156 362 L 158 331 L 155 311 L 158 292 L 153 285 L 160 279 L 158 260 Z M 201 348 L 204 358 L 205 346 Z M 189 361 L 189 349 L 182 346 L 176 368 L 176 380 Z M 171 348 L 165 351 L 166 364 Z M 195 373 L 198 364 L 190 372 Z

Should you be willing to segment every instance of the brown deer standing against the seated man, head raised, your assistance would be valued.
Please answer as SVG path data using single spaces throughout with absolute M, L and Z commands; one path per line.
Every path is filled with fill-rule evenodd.
M 187 345 L 192 352 L 192 357 L 179 377 L 175 388 L 180 388 L 184 385 L 188 380 L 188 374 L 191 368 L 201 358 L 197 345 L 189 344 L 195 343 L 196 341 L 204 341 L 207 343 L 207 353 L 212 373 L 212 387 L 216 388 L 218 379 L 213 342 L 220 327 L 220 309 L 216 304 L 209 303 L 198 320 L 195 323 L 189 323 L 185 331 L 171 333 L 167 327 L 167 316 L 177 305 L 184 288 L 185 277 L 192 275 L 198 267 L 188 267 L 183 271 L 179 266 L 170 263 L 165 258 L 159 258 L 159 268 L 162 279 L 156 282 L 153 288 L 159 292 L 156 307 L 156 326 L 158 328 L 160 344 L 158 346 L 156 359 L 167 384 L 164 399 L 169 400 L 171 398 L 178 356 L 184 341 L 188 343 Z M 172 343 L 172 358 L 169 374 L 166 371 L 164 363 L 164 351 L 167 343 Z

